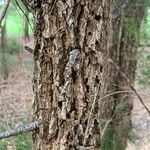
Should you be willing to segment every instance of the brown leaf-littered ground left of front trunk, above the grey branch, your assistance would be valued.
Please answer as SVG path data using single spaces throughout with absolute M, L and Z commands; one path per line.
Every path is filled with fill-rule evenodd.
M 20 57 L 20 56 L 19 56 Z M 30 119 L 32 94 L 32 56 L 24 52 L 11 67 L 9 77 L 0 76 L 0 122 L 18 124 Z M 18 59 L 18 60 L 17 60 Z M 13 125 L 12 125 L 13 126 Z

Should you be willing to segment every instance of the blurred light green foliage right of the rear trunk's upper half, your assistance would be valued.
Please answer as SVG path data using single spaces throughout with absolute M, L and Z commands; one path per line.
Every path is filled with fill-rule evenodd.
M 145 0 L 147 10 L 141 26 L 140 39 L 143 45 L 150 45 L 150 0 Z M 150 84 L 150 54 L 149 48 L 143 48 L 147 52 L 141 52 L 137 56 L 138 71 L 136 75 L 136 86 L 139 88 L 145 88 Z

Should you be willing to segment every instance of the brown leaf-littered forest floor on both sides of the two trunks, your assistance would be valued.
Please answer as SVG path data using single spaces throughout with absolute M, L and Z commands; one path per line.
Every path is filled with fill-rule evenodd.
M 6 128 L 22 125 L 32 116 L 32 56 L 24 52 L 21 58 L 21 62 L 16 60 L 17 65 L 11 69 L 7 80 L 0 77 L 0 123 L 6 124 Z M 150 108 L 150 88 L 140 93 Z M 128 144 L 127 150 L 150 150 L 150 116 L 136 97 L 132 120 L 136 140 Z

